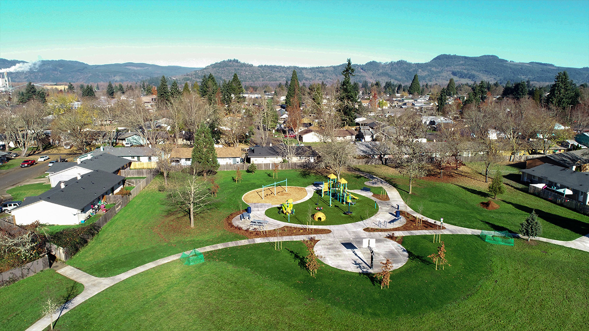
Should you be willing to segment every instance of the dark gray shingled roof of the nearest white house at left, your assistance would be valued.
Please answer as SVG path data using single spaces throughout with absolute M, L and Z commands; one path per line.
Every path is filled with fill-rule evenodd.
M 107 171 L 94 170 L 91 173 L 82 175 L 79 180 L 78 178 L 72 178 L 66 181 L 64 188 L 58 185 L 38 196 L 27 197 L 18 208 L 42 200 L 81 210 L 92 200 L 107 193 L 111 187 L 124 179 L 123 176 L 108 173 Z

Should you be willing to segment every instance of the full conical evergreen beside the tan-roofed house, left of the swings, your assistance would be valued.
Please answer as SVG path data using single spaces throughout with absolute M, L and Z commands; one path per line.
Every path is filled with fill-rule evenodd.
M 191 166 L 198 174 L 214 173 L 219 170 L 215 143 L 206 125 L 201 125 L 194 133 Z

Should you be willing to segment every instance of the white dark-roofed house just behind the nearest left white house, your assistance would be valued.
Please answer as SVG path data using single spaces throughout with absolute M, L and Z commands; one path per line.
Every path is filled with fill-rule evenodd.
M 70 180 L 71 178 L 79 177 L 83 174 L 90 173 L 95 170 L 105 171 L 111 174 L 118 174 L 119 171 L 130 166 L 131 161 L 126 158 L 118 157 L 108 153 L 94 155 L 91 158 L 81 160 L 78 158 L 77 162 L 57 162 L 49 167 L 45 173 L 48 173 L 49 184 L 51 187 L 57 186 L 62 181 Z

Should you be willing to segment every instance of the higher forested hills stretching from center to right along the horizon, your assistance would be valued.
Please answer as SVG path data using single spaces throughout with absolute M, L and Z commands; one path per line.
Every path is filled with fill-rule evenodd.
M 352 59 L 353 61 L 353 59 Z M 299 82 L 332 82 L 342 78 L 341 72 L 345 64 L 330 67 L 284 67 L 280 65 L 251 65 L 231 59 L 211 64 L 203 69 L 187 74 L 192 80 L 200 81 L 203 75 L 213 74 L 218 80 L 231 80 L 236 72 L 244 84 L 276 84 L 290 80 L 293 69 L 297 71 Z M 353 64 L 355 76 L 353 81 L 393 81 L 409 84 L 413 75 L 419 74 L 419 82 L 447 84 L 450 78 L 456 82 L 499 81 L 505 84 L 527 81 L 537 84 L 551 84 L 554 76 L 566 70 L 569 77 L 581 84 L 589 82 L 589 67 L 567 68 L 555 67 L 540 62 L 512 62 L 500 59 L 495 55 L 481 57 L 463 57 L 459 55 L 439 55 L 429 62 L 410 63 L 407 61 L 376 62 Z

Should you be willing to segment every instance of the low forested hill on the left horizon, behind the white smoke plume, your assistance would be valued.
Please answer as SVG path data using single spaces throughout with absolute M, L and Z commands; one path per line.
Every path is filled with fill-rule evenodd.
M 0 69 L 24 61 L 0 59 Z M 141 81 L 154 76 L 177 76 L 198 68 L 161 66 L 145 63 L 115 63 L 90 65 L 67 60 L 44 60 L 31 64 L 28 71 L 9 72 L 13 82 L 125 82 Z

